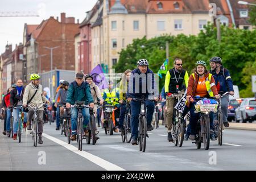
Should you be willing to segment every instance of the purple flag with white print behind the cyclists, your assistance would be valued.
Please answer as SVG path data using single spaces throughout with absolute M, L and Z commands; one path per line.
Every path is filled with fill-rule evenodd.
M 90 74 L 92 74 L 94 83 L 98 85 L 100 89 L 108 88 L 108 81 L 106 80 L 100 64 L 93 68 Z

